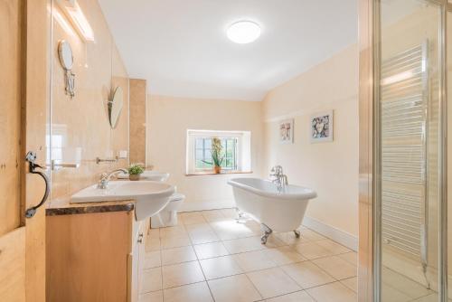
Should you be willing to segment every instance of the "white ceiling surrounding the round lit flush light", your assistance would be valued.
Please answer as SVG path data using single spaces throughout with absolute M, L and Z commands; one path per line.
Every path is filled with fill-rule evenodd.
M 357 41 L 357 0 L 99 0 L 129 76 L 151 94 L 261 100 Z M 257 22 L 260 38 L 225 30 Z

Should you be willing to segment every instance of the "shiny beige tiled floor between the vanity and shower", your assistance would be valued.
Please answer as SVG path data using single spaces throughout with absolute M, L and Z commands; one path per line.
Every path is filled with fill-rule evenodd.
M 260 243 L 234 210 L 185 212 L 146 238 L 140 302 L 356 301 L 356 253 L 306 228 Z

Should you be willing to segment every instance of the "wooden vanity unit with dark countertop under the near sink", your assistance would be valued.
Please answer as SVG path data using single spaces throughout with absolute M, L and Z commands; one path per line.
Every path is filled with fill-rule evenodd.
M 47 301 L 137 301 L 147 226 L 134 202 L 52 204 L 46 222 Z

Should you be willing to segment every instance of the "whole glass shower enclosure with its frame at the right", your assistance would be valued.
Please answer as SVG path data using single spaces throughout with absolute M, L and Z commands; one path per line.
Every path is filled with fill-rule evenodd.
M 360 1 L 360 301 L 452 297 L 449 2 Z

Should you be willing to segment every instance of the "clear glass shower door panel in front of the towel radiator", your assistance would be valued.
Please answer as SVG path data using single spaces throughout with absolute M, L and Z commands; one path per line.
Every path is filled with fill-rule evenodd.
M 381 301 L 438 301 L 442 10 L 376 3 L 376 288 Z

